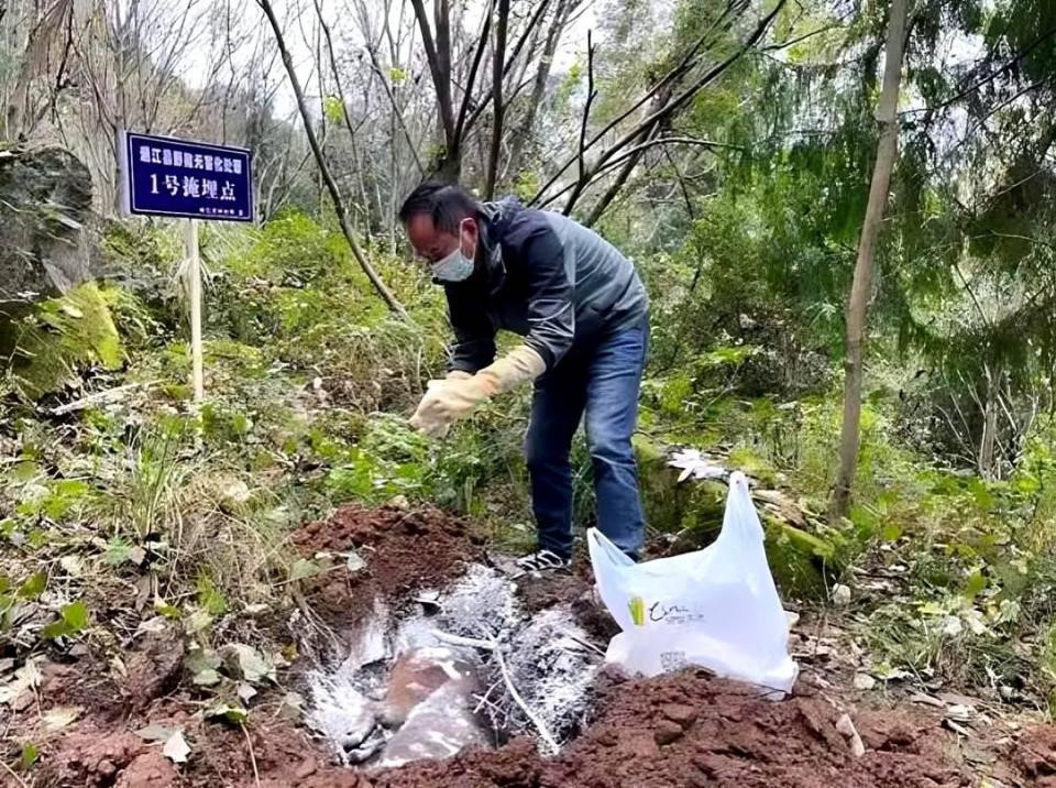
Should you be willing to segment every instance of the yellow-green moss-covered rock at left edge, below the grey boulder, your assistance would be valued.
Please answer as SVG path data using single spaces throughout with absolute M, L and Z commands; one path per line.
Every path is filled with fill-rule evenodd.
M 29 401 L 58 391 L 79 370 L 114 370 L 124 361 L 110 308 L 94 282 L 0 327 L 0 348 L 11 358 L 15 385 Z

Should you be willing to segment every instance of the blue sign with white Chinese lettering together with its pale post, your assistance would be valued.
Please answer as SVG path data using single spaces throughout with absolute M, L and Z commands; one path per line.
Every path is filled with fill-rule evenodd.
M 198 221 L 253 221 L 252 154 L 127 131 L 121 146 L 121 197 L 127 215 L 187 219 L 187 297 L 190 300 L 190 381 L 205 396 L 201 348 L 201 258 Z

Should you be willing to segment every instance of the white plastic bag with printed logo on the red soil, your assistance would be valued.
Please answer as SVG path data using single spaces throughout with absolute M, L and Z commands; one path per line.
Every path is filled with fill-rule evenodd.
M 798 668 L 743 473 L 729 478 L 723 530 L 708 547 L 635 563 L 587 532 L 597 590 L 623 632 L 606 661 L 656 676 L 686 665 L 788 692 Z

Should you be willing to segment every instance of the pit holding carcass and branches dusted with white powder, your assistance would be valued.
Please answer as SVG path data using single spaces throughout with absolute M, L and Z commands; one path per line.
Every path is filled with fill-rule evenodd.
M 529 612 L 516 583 L 473 563 L 443 591 L 382 598 L 333 667 L 306 676 L 306 719 L 371 771 L 532 736 L 553 753 L 585 723 L 603 652 L 563 602 Z

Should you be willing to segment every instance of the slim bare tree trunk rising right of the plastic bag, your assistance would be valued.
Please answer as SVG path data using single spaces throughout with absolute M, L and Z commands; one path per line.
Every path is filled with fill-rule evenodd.
M 858 260 L 855 278 L 847 300 L 847 348 L 844 361 L 844 424 L 839 436 L 839 469 L 833 503 L 832 519 L 845 517 L 850 507 L 850 493 L 858 468 L 859 422 L 861 418 L 862 351 L 866 342 L 866 317 L 869 294 L 872 289 L 872 271 L 876 262 L 877 237 L 883 221 L 883 210 L 891 186 L 891 172 L 899 144 L 899 85 L 902 79 L 902 51 L 905 44 L 905 19 L 908 0 L 891 0 L 888 19 L 887 54 L 883 68 L 883 87 L 877 107 L 880 140 L 877 144 L 877 162 L 872 169 L 869 201 L 858 241 Z

